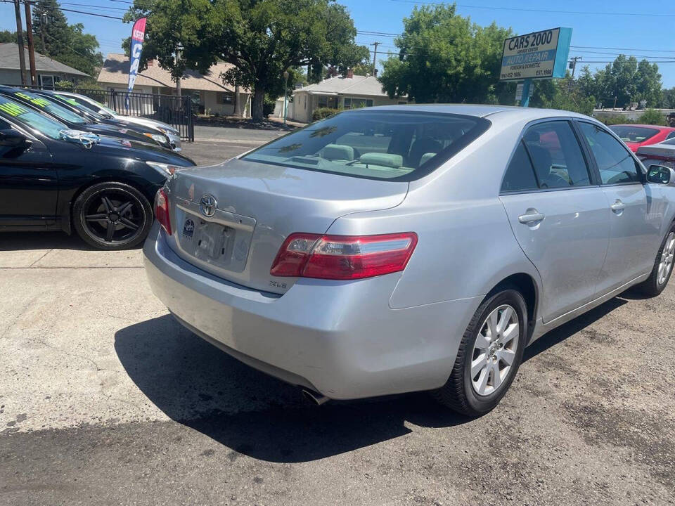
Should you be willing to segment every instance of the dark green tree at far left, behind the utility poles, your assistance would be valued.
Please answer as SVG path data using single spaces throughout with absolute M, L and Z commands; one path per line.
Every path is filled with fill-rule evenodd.
M 39 0 L 32 10 L 35 51 L 65 65 L 94 74 L 103 65 L 98 41 L 84 33 L 84 25 L 68 25 L 56 0 Z

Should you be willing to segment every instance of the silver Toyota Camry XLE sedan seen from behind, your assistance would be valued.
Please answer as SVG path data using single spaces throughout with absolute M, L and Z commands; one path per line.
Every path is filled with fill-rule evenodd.
M 317 403 L 491 410 L 523 349 L 675 253 L 675 171 L 559 110 L 364 108 L 176 171 L 143 253 L 180 323 Z

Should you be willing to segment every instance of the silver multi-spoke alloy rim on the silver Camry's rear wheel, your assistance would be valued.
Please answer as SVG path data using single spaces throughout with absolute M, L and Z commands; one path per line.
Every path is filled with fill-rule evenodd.
M 506 381 L 515 360 L 519 335 L 520 322 L 513 306 L 503 304 L 485 318 L 470 364 L 471 384 L 476 394 L 494 394 Z

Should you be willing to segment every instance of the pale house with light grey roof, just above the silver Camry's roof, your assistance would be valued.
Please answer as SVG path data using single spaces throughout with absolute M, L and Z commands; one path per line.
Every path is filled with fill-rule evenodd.
M 351 109 L 365 105 L 396 105 L 408 103 L 405 97 L 389 98 L 375 76 L 330 77 L 293 91 L 293 103 L 288 107 L 288 119 L 311 122 L 311 113 L 318 108 Z

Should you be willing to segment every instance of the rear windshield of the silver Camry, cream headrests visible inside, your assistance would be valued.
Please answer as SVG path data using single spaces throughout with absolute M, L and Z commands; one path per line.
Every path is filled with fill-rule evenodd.
M 475 116 L 352 110 L 272 141 L 242 160 L 368 179 L 418 179 L 489 127 Z

